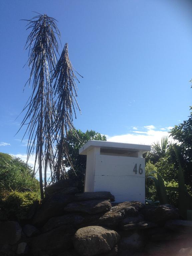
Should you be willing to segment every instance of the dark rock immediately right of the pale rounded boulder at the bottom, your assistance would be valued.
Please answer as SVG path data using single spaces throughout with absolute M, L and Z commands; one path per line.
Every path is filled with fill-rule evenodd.
M 120 241 L 120 248 L 122 250 L 133 250 L 133 251 L 138 251 L 143 247 L 143 239 L 142 237 L 137 233 L 133 233 L 129 237 L 123 237 L 121 238 Z

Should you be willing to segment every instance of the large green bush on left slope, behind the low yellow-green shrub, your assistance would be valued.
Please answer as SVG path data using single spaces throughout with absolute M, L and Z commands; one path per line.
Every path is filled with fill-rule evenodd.
M 20 158 L 0 153 L 0 188 L 39 191 L 39 181 L 33 177 L 33 169 Z

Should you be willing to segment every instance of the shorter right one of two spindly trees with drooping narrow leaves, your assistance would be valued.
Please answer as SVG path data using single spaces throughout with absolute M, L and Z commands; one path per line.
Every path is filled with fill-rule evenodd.
M 75 130 L 73 126 L 73 114 L 75 114 L 76 118 L 75 110 L 78 109 L 80 111 L 76 100 L 76 81 L 79 82 L 79 80 L 75 73 L 79 75 L 69 60 L 68 45 L 66 43 L 52 77 L 52 80 L 56 79 L 53 86 L 54 94 L 56 96 L 56 118 L 54 128 L 55 139 L 58 142 L 56 149 L 56 166 L 53 177 L 54 181 L 67 178 L 63 155 L 68 158 L 68 161 L 73 167 L 68 152 L 66 136 L 67 131 Z

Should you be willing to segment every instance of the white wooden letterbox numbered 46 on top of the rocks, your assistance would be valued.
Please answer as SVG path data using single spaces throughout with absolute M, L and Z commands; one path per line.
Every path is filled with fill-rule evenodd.
M 145 202 L 145 159 L 148 145 L 90 140 L 79 149 L 87 155 L 85 192 L 110 191 L 115 202 Z

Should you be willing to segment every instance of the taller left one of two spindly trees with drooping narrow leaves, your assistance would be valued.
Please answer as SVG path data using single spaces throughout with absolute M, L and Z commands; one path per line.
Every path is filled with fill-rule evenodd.
M 32 84 L 32 94 L 23 109 L 23 111 L 26 110 L 26 115 L 21 127 L 26 126 L 25 134 L 29 136 L 27 161 L 35 152 L 35 165 L 38 162 L 41 198 L 43 198 L 42 168 L 44 167 L 46 186 L 47 168 L 53 166 L 52 125 L 55 110 L 50 77 L 57 60 L 56 36 L 60 37 L 60 33 L 55 23 L 56 20 L 46 14 L 35 16 L 27 21 L 27 29 L 32 29 L 25 45 L 25 48 L 29 50 L 28 66 L 31 72 L 28 83 Z

